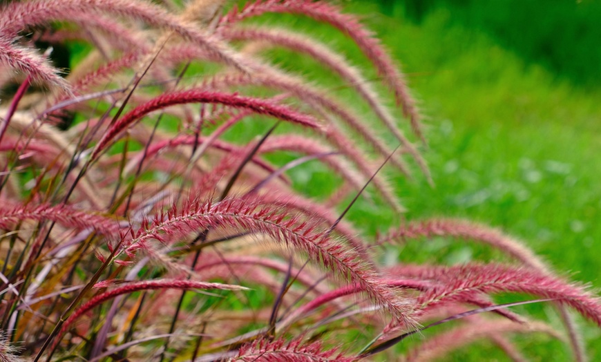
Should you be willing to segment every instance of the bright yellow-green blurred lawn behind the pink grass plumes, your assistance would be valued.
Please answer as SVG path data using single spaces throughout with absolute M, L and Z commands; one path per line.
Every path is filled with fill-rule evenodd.
M 524 59 L 523 53 L 481 28 L 455 21 L 443 6 L 428 11 L 418 23 L 398 6 L 390 17 L 379 12 L 376 2 L 343 5 L 364 15 L 399 60 L 428 116 L 429 147 L 423 153 L 435 187 L 417 170 L 412 182 L 390 176 L 409 210 L 406 218 L 449 216 L 500 227 L 524 240 L 562 275 L 601 287 L 601 87 L 579 85 L 575 77 L 557 74 L 544 61 Z M 263 21 L 307 30 L 355 64 L 365 64 L 356 47 L 328 26 L 282 15 Z M 283 50 L 270 56 L 283 68 L 302 68 L 341 99 L 361 103 L 353 102 L 352 91 L 314 61 Z M 368 75 L 376 78 L 373 72 Z M 372 117 L 367 108 L 361 111 Z M 332 182 L 327 169 L 313 164 L 292 173 L 298 188 L 315 196 Z M 318 184 L 322 186 L 316 188 Z M 399 222 L 378 202 L 356 204 L 349 217 L 370 234 Z M 451 240 L 412 242 L 398 254 L 406 263 L 498 258 L 486 247 Z M 548 305 L 517 310 L 560 327 Z M 591 360 L 601 360 L 600 330 L 584 322 L 582 328 Z M 477 344 L 481 348 L 451 354 L 449 360 L 507 360 L 492 345 Z M 566 346 L 546 336 L 526 336 L 519 345 L 533 361 L 571 359 Z

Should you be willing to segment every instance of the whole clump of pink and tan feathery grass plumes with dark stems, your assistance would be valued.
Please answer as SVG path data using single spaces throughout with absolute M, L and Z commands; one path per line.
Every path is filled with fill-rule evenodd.
M 0 66 L 14 74 L 1 79 L 1 360 L 370 360 L 446 322 L 404 357 L 485 338 L 522 359 L 511 334 L 540 332 L 586 359 L 569 309 L 601 325 L 601 303 L 517 240 L 462 220 L 370 240 L 347 222 L 370 193 L 403 210 L 385 164 L 429 180 L 416 102 L 356 17 L 308 0 L 164 3 L 19 1 L 0 12 Z M 311 35 L 246 20 L 269 12 L 337 28 L 385 88 Z M 35 46 L 70 41 L 92 50 L 68 72 Z M 260 50 L 272 46 L 330 68 L 370 115 L 270 64 Z M 231 142 L 244 122 L 268 131 Z M 305 162 L 336 173 L 325 201 L 294 191 L 287 171 Z M 386 245 L 432 236 L 513 263 L 383 263 Z M 534 299 L 498 305 L 498 293 Z M 554 303 L 565 333 L 508 310 L 524 303 Z

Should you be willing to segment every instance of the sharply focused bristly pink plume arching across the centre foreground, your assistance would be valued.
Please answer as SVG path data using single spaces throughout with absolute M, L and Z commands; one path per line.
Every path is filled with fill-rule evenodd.
M 326 230 L 311 220 L 304 220 L 285 209 L 264 205 L 252 200 L 225 199 L 220 202 L 192 200 L 182 211 L 171 209 L 156 216 L 124 242 L 124 248 L 134 250 L 144 247 L 144 242 L 162 240 L 164 233 L 187 234 L 191 231 L 228 227 L 251 233 L 264 234 L 274 241 L 305 252 L 335 276 L 359 285 L 372 300 L 388 310 L 392 316 L 411 318 L 410 306 L 394 289 L 381 285 L 369 265 L 356 251 L 328 236 Z

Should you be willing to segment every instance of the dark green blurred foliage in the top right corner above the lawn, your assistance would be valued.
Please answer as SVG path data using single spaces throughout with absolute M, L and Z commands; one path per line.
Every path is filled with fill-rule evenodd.
M 577 84 L 601 80 L 601 2 L 595 0 L 380 0 L 381 12 L 415 23 L 449 12 L 452 23 L 488 35 L 527 62 Z

